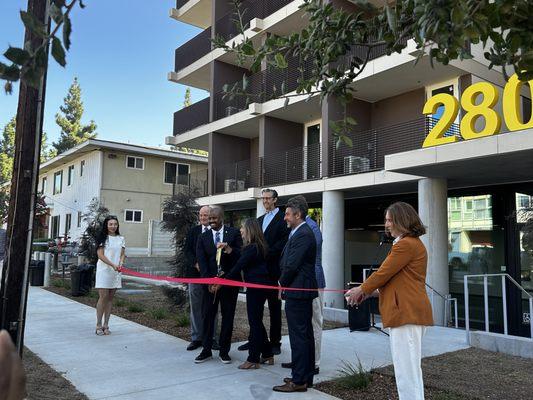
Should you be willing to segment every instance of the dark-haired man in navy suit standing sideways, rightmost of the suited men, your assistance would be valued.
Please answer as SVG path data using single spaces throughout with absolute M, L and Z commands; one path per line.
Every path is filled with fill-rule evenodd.
M 317 289 L 315 274 L 316 241 L 313 231 L 305 223 L 307 203 L 293 197 L 287 202 L 285 221 L 291 228 L 283 249 L 279 283 L 283 287 Z M 283 292 L 285 314 L 292 352 L 292 377 L 284 385 L 274 386 L 276 392 L 305 392 L 313 385 L 315 342 L 313 337 L 313 299 L 315 290 Z

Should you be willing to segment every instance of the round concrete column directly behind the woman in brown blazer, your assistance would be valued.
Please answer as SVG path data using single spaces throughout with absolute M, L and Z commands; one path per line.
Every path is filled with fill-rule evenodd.
M 418 181 L 418 213 L 427 232 L 421 237 L 428 252 L 426 282 L 437 292 L 450 292 L 448 276 L 448 184 L 446 179 Z M 428 290 L 435 325 L 444 324 L 444 300 Z

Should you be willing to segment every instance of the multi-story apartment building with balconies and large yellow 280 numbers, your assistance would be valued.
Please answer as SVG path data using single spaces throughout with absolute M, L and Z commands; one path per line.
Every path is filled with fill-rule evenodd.
M 244 1 L 246 35 L 260 43 L 269 34 L 289 34 L 306 24 L 301 0 Z M 332 0 L 335 5 L 353 3 Z M 524 221 L 517 219 L 524 199 L 533 195 L 533 129 L 463 140 L 458 123 L 445 136 L 456 143 L 423 147 L 440 113 L 422 113 L 426 101 L 438 93 L 460 99 L 479 82 L 489 82 L 500 93 L 494 109 L 502 113 L 502 74 L 489 70 L 481 46 L 472 46 L 474 58 L 430 66 L 428 57 L 415 65 L 418 50 L 412 40 L 401 54 L 387 56 L 376 48 L 363 74 L 357 77 L 357 99 L 347 113 L 357 120 L 353 146 L 337 148 L 330 121 L 339 119 L 335 98 L 318 96 L 272 99 L 273 87 L 293 91 L 298 77 L 295 60 L 289 68 L 255 74 L 238 66 L 233 54 L 213 49 L 210 39 L 222 35 L 238 41 L 232 2 L 178 0 L 170 16 L 203 29 L 178 47 L 169 80 L 204 89 L 209 97 L 174 114 L 169 144 L 209 151 L 208 191 L 203 204 L 223 204 L 230 217 L 262 213 L 260 189 L 275 188 L 281 203 L 303 194 L 321 209 L 324 236 L 323 266 L 327 285 L 344 288 L 359 281 L 361 271 L 386 255 L 380 245 L 385 208 L 394 201 L 411 203 L 420 212 L 428 233 L 427 282 L 436 291 L 451 294 L 463 309 L 462 276 L 468 273 L 506 272 L 530 293 L 531 257 L 525 257 L 521 238 Z M 361 51 L 353 48 L 347 57 Z M 306 70 L 306 65 L 300 66 Z M 249 96 L 223 96 L 223 86 L 248 76 Z M 523 121 L 531 118 L 531 94 L 522 88 L 518 108 Z M 483 118 L 476 129 L 483 128 Z M 529 203 L 528 203 L 529 204 Z M 457 215 L 459 211 L 459 215 Z M 462 238 L 462 239 L 461 239 Z M 453 263 L 451 260 L 459 257 Z M 490 262 L 488 262 L 490 258 Z M 479 268 L 479 265 L 484 265 Z M 475 266 L 477 265 L 477 266 Z M 461 274 L 461 275 L 459 275 Z M 461 279 L 458 279 L 458 277 Z M 500 279 L 500 278 L 497 278 Z M 479 281 L 482 282 L 482 281 Z M 500 281 L 489 279 L 491 329 L 501 329 Z M 483 326 L 483 290 L 473 284 L 472 318 Z M 508 287 L 510 330 L 529 331 L 527 296 Z M 435 295 L 436 322 L 443 323 L 444 307 Z M 343 307 L 342 296 L 327 293 L 326 306 Z

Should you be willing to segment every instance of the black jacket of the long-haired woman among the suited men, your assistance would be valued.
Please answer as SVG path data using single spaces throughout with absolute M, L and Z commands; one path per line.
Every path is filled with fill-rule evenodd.
M 255 243 L 242 249 L 241 256 L 235 263 L 235 266 L 226 275 L 226 278 L 240 281 L 241 271 L 244 272 L 245 282 L 265 285 L 274 284 L 268 273 L 265 257 L 259 252 Z M 277 282 L 275 284 L 277 285 Z

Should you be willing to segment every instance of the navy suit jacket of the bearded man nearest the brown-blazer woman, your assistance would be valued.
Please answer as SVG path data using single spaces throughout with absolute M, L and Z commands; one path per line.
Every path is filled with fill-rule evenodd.
M 292 235 L 283 249 L 279 283 L 283 287 L 316 289 L 316 241 L 313 231 L 303 224 Z M 286 299 L 314 299 L 316 291 L 285 291 Z

